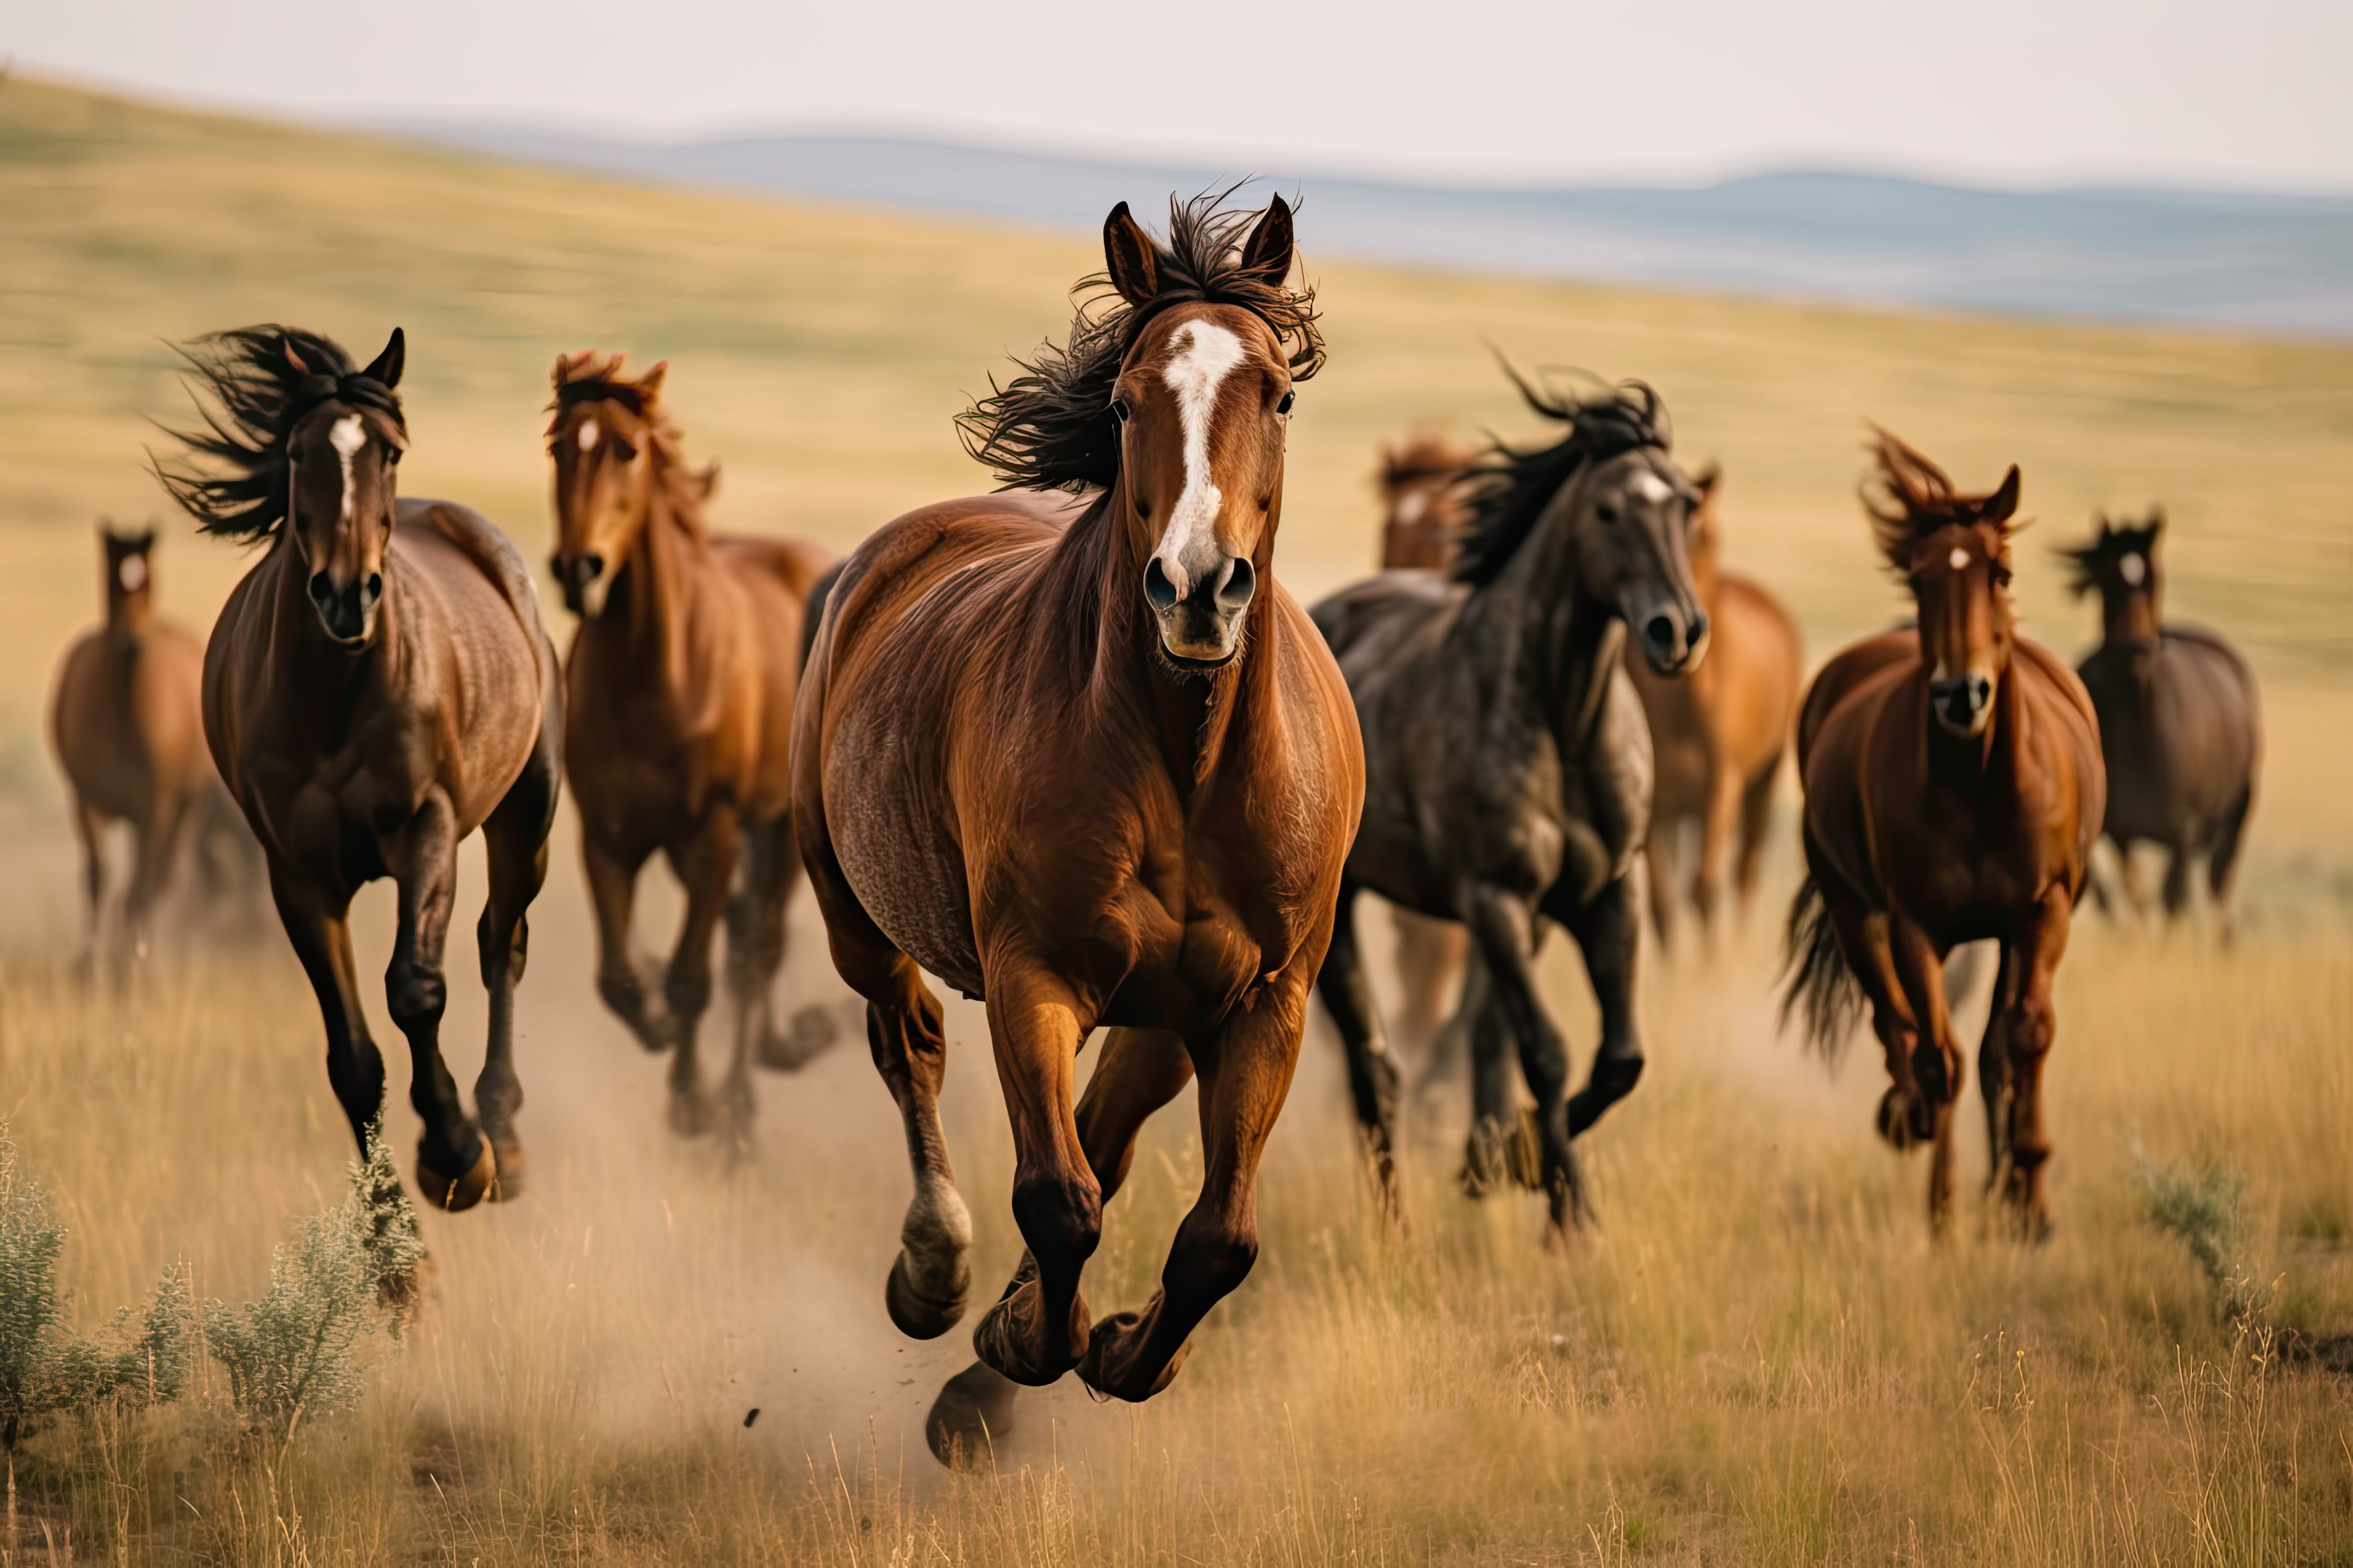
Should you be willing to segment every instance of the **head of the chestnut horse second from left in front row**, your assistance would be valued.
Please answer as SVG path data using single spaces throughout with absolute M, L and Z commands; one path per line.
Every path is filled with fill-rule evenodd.
M 555 360 L 555 418 L 548 456 L 555 458 L 555 555 L 551 567 L 565 609 L 593 621 L 605 611 L 621 564 L 638 548 L 654 494 L 671 470 L 661 378 L 668 362 L 635 381 L 621 355 L 576 353 Z M 704 498 L 718 482 L 708 468 L 687 475 Z

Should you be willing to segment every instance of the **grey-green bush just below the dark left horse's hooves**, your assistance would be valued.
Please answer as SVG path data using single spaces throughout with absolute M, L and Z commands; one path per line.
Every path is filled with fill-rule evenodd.
M 384 1138 L 372 1133 L 367 1150 L 351 1197 L 275 1251 L 261 1300 L 207 1312 L 212 1354 L 256 1427 L 289 1434 L 304 1415 L 355 1403 L 381 1359 L 379 1335 L 398 1340 L 405 1326 L 426 1246 Z

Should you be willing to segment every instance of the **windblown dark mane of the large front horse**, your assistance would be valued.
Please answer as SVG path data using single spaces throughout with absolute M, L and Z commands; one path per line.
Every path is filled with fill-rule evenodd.
M 1047 341 L 1021 374 L 976 400 L 955 418 L 965 451 L 995 473 L 1002 489 L 1108 489 L 1120 477 L 1120 428 L 1111 418 L 1111 383 L 1127 362 L 1144 324 L 1169 306 L 1240 306 L 1289 350 L 1294 381 L 1322 367 L 1315 289 L 1292 289 L 1282 277 L 1242 266 L 1242 240 L 1257 212 L 1219 207 L 1233 188 L 1188 202 L 1169 197 L 1169 237 L 1153 242 L 1160 294 L 1129 306 L 1106 273 L 1089 273 L 1073 289 L 1078 313 L 1066 343 Z

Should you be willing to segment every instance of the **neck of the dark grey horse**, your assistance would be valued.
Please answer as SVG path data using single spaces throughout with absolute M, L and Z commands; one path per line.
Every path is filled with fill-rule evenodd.
M 1464 602 L 1457 637 L 1499 649 L 1506 689 L 1569 745 L 1600 710 L 1624 630 L 1617 607 L 1593 595 L 1577 567 L 1574 529 L 1544 517 L 1504 571 Z

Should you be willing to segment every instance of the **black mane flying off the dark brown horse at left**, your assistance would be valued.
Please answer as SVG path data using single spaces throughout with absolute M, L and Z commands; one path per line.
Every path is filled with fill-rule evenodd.
M 179 350 L 193 374 L 202 430 L 162 433 L 188 449 L 148 458 L 172 501 L 205 534 L 268 538 L 287 515 L 287 435 L 322 402 L 374 409 L 407 435 L 400 397 L 351 364 L 334 339 L 301 327 L 240 327 Z M 205 407 L 205 395 L 214 407 Z

